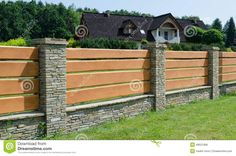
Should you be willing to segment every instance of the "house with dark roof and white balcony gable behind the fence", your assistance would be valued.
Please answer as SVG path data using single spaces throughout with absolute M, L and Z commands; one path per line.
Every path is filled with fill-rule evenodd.
M 84 13 L 81 25 L 87 27 L 87 37 L 106 37 L 158 43 L 186 41 L 184 29 L 193 25 L 206 28 L 203 21 L 176 19 L 172 14 L 157 17 L 123 16 L 106 13 Z

